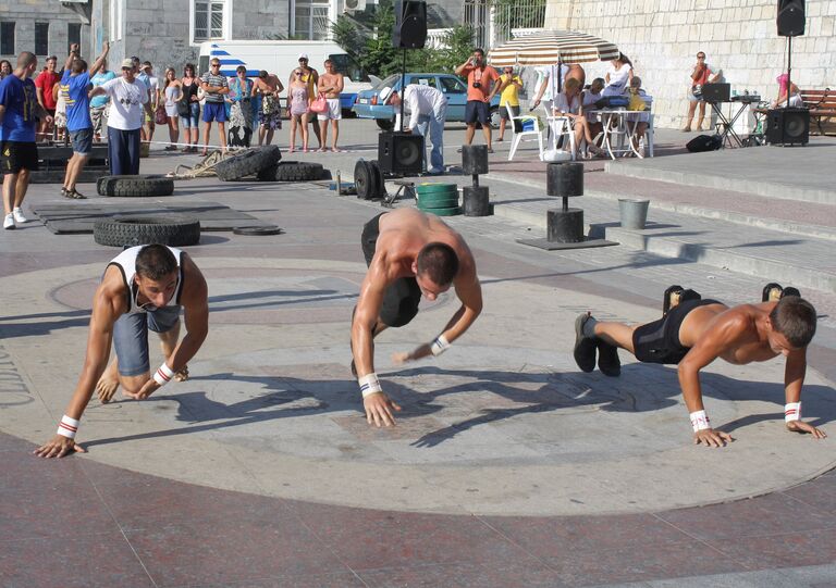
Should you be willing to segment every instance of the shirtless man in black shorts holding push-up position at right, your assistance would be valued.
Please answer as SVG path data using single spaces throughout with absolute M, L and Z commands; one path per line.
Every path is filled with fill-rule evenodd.
M 716 300 L 680 302 L 659 321 L 630 326 L 597 321 L 589 313 L 575 322 L 575 361 L 585 372 L 595 366 L 608 376 L 620 373 L 617 348 L 646 363 L 678 364 L 679 386 L 690 413 L 693 442 L 722 447 L 732 436 L 711 427 L 702 403 L 700 370 L 717 358 L 738 365 L 786 358 L 785 421 L 789 430 L 824 431 L 801 421 L 801 385 L 807 371 L 807 346 L 815 334 L 815 309 L 797 296 L 779 301 L 728 308 Z

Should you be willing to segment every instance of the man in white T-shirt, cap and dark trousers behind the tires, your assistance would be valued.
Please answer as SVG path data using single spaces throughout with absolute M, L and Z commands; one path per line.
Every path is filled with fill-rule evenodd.
M 143 116 L 151 115 L 148 87 L 135 76 L 134 62 L 122 62 L 122 76 L 90 90 L 89 98 L 108 95 L 111 100 L 108 117 L 108 160 L 111 175 L 139 173 L 139 133 Z

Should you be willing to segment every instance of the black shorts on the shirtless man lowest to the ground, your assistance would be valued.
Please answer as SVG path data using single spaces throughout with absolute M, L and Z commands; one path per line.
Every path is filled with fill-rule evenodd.
M 641 325 L 632 331 L 632 348 L 636 359 L 644 363 L 678 364 L 690 351 L 679 342 L 679 327 L 693 309 L 706 304 L 722 304 L 716 300 L 687 300 L 671 309 L 653 323 Z

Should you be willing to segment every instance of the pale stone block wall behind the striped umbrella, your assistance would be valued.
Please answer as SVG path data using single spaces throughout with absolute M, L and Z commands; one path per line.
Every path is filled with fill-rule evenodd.
M 807 0 L 807 30 L 792 39 L 791 78 L 801 88 L 836 89 L 836 1 Z M 549 0 L 545 28 L 581 30 L 618 46 L 654 97 L 655 124 L 676 127 L 687 113 L 688 76 L 698 51 L 723 70 L 733 90 L 775 98 L 786 71 L 776 0 Z M 587 79 L 604 64 L 585 64 Z

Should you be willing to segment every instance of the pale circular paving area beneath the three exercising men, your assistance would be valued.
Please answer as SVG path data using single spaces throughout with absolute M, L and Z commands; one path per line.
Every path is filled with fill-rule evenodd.
M 431 340 L 452 293 L 376 341 L 397 426 L 366 423 L 351 376 L 351 312 L 365 267 L 311 260 L 197 260 L 210 336 L 192 379 L 144 402 L 94 399 L 79 440 L 93 459 L 183 481 L 267 496 L 440 513 L 598 514 L 724 501 L 798 484 L 832 467 L 827 443 L 784 429 L 783 361 L 717 362 L 703 376 L 712 422 L 739 440 L 691 445 L 676 370 L 624 362 L 622 377 L 580 373 L 574 317 L 649 321 L 657 311 L 529 282 L 483 278 L 485 311 L 444 355 L 397 366 Z M 3 403 L 3 430 L 41 442 L 83 360 L 85 308 L 101 266 L 0 279 L 2 342 L 30 402 Z M 73 276 L 70 280 L 66 276 Z M 151 346 L 152 364 L 160 361 Z M 72 386 L 72 384 L 70 384 Z M 834 414 L 832 387 L 806 381 L 808 415 Z M 0 400 L 1 402 L 1 400 Z M 786 467 L 792 463 L 794 467 Z

